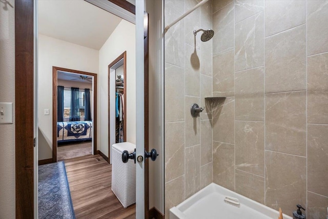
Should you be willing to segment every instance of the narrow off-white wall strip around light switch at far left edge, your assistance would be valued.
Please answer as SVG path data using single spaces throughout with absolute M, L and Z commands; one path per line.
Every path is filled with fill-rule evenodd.
M 13 0 L 8 1 L 14 7 Z M 0 102 L 13 103 L 13 124 L 0 125 L 0 218 L 15 218 L 15 9 L 0 3 Z

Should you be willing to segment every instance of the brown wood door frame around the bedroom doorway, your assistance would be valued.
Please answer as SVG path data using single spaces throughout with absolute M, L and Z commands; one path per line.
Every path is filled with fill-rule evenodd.
M 52 161 L 57 162 L 57 71 L 93 76 L 93 154 L 97 154 L 97 74 L 68 68 L 52 67 Z

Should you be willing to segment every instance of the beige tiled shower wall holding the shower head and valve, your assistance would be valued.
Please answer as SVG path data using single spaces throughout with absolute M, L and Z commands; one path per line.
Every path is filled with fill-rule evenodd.
M 165 26 L 196 4 L 166 0 Z M 212 39 L 201 42 L 201 32 L 194 37 L 199 28 L 212 29 L 211 1 L 165 34 L 166 218 L 171 207 L 213 182 L 211 114 L 208 108 L 200 117 L 190 114 L 192 104 L 204 107 L 204 97 L 212 95 Z

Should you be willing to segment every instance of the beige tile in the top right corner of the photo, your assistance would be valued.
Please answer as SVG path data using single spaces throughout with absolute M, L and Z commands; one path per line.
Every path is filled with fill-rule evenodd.
M 307 2 L 308 55 L 328 51 L 328 1 Z

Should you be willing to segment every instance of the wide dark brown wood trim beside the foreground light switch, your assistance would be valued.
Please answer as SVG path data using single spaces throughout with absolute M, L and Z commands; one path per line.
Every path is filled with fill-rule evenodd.
M 15 1 L 16 218 L 33 218 L 33 0 Z

